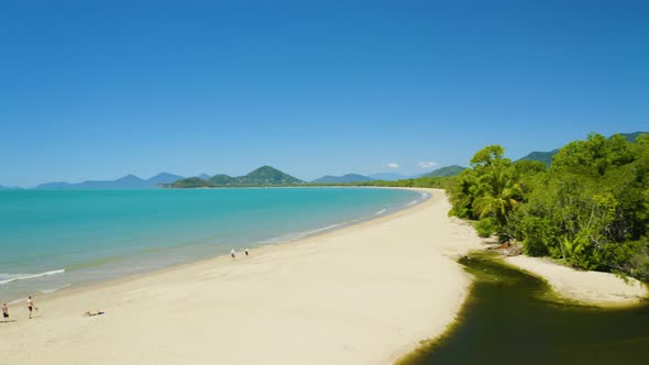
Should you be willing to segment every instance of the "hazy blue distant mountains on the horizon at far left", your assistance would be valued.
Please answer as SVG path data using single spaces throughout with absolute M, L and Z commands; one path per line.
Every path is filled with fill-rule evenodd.
M 161 173 L 146 180 L 135 175 L 127 175 L 117 180 L 88 180 L 78 184 L 63 181 L 47 182 L 36 186 L 35 189 L 155 189 L 160 185 L 172 184 L 182 178 L 183 176 L 169 173 Z

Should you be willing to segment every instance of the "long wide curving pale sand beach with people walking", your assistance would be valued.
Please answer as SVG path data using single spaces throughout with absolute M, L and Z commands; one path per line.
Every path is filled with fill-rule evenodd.
M 13 306 L 2 364 L 389 364 L 439 335 L 480 246 L 444 192 L 300 242 Z M 105 316 L 86 318 L 87 310 Z

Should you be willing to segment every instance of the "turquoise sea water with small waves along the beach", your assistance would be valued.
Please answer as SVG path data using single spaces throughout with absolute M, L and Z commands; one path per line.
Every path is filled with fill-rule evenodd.
M 0 301 L 288 242 L 425 198 L 367 188 L 0 191 Z

